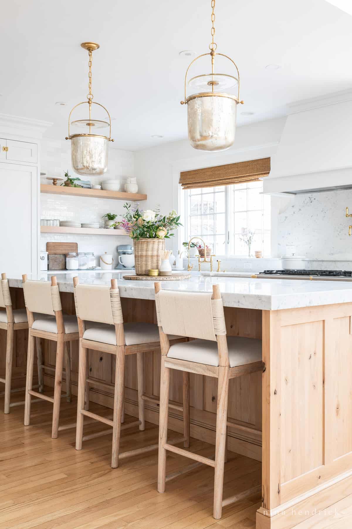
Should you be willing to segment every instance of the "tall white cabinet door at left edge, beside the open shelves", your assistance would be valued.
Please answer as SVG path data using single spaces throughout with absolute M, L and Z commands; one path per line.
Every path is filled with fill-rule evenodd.
M 33 166 L 0 162 L 0 272 L 21 277 L 37 271 L 37 171 Z

